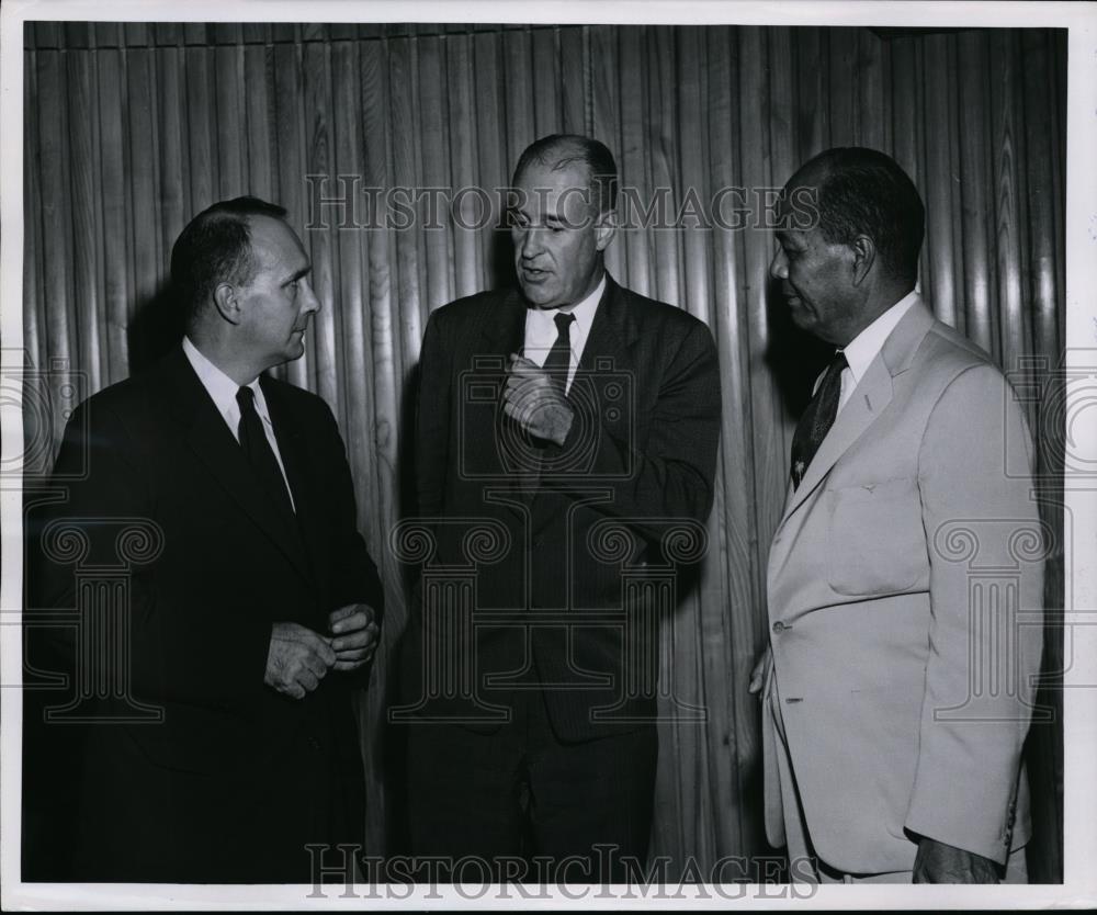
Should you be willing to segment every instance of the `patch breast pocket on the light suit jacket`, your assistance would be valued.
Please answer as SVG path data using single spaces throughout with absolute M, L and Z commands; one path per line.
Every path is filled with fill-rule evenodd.
M 846 486 L 826 496 L 827 571 L 837 594 L 893 594 L 918 584 L 929 561 L 914 477 Z

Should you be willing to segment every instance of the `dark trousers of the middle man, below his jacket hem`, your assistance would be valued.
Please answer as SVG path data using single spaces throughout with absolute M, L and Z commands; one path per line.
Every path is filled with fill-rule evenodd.
M 654 724 L 562 742 L 539 690 L 490 734 L 411 724 L 416 879 L 625 882 L 647 856 L 656 755 Z

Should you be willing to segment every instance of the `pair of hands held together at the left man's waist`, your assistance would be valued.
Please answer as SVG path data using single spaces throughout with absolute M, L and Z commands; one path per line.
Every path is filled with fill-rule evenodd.
M 274 623 L 263 682 L 283 696 L 303 699 L 329 670 L 357 670 L 377 648 L 380 629 L 373 608 L 340 607 L 328 615 L 329 634 L 299 623 Z

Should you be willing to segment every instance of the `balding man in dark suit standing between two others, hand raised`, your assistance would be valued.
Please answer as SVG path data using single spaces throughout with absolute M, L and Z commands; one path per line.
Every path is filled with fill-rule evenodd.
M 658 617 L 713 499 L 715 347 L 606 273 L 615 183 L 601 143 L 529 147 L 510 213 L 520 289 L 439 308 L 422 346 L 430 555 L 395 710 L 410 721 L 411 840 L 501 878 L 643 863 Z M 547 867 L 529 870 L 534 857 Z

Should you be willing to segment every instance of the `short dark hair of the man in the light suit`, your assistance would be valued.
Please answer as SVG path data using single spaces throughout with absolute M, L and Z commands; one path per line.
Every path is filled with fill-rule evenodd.
M 833 245 L 867 235 L 896 280 L 918 278 L 926 207 L 909 176 L 891 156 L 860 146 L 821 152 L 800 169 L 818 176 L 819 229 Z

